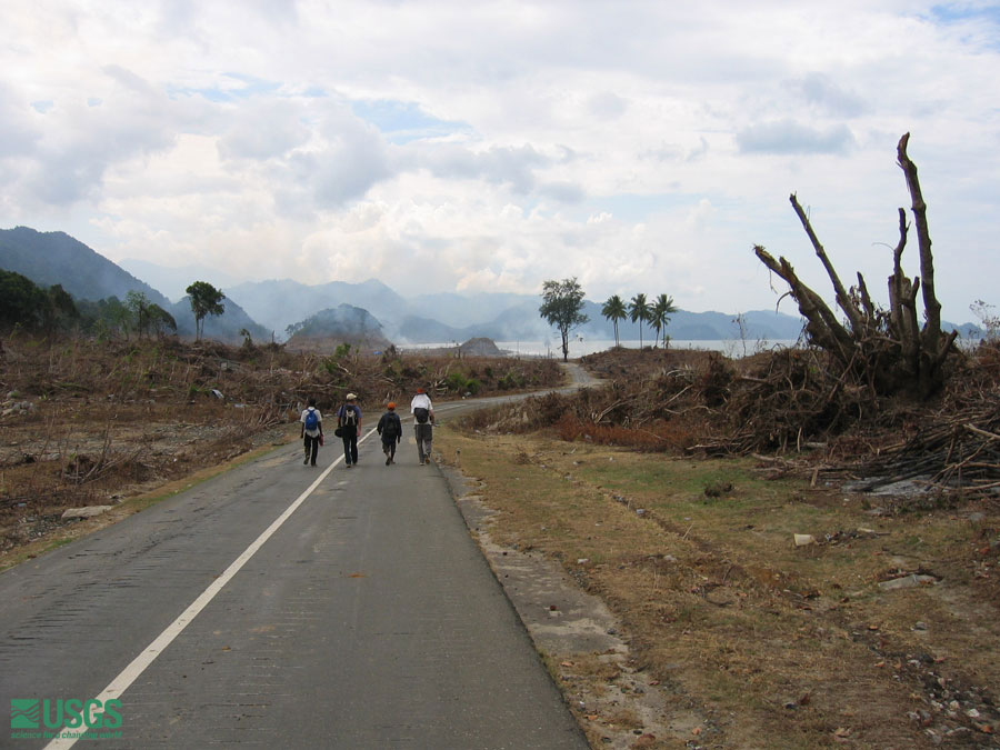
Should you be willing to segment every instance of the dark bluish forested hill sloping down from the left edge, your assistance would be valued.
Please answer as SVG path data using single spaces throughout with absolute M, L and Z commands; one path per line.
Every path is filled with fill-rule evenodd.
M 0 229 L 0 268 L 17 271 L 38 284 L 62 284 L 79 299 L 124 299 L 143 292 L 167 309 L 170 300 L 64 232 L 39 232 L 28 227 Z

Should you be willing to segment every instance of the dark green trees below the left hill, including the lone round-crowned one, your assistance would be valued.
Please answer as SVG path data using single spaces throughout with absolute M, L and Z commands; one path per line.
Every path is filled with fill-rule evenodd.
M 204 332 L 207 316 L 221 316 L 226 294 L 206 281 L 189 286 L 188 301 L 194 314 L 196 338 Z M 62 284 L 40 287 L 16 271 L 0 269 L 0 327 L 19 327 L 54 336 L 73 329 L 100 337 L 177 333 L 177 321 L 144 292 L 129 291 L 124 301 L 117 297 L 91 301 L 74 299 Z

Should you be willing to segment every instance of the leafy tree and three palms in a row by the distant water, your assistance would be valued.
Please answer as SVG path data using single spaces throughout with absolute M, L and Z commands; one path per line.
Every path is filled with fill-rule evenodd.
M 582 312 L 583 310 L 583 289 L 577 281 L 577 278 L 563 279 L 562 281 L 549 280 L 542 283 L 542 304 L 538 311 L 550 326 L 554 326 L 562 338 L 562 360 L 569 359 L 569 334 L 570 332 L 590 321 L 590 318 Z M 657 331 L 653 339 L 653 346 L 660 341 L 662 333 L 663 348 L 667 348 L 669 337 L 667 336 L 667 324 L 670 322 L 670 316 L 677 312 L 673 306 L 673 298 L 668 294 L 659 294 L 654 300 L 650 301 L 644 293 L 638 293 L 626 302 L 618 294 L 612 294 L 601 308 L 601 314 L 611 321 L 614 327 L 614 346 L 621 346 L 621 339 L 618 333 L 618 323 L 622 320 L 630 319 L 633 323 L 639 323 L 639 348 L 642 348 L 642 324 L 652 326 Z

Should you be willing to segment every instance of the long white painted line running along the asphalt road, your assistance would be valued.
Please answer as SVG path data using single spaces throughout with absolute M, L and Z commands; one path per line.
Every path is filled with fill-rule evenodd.
M 358 442 L 364 442 L 374 433 L 374 430 L 370 430 L 368 434 L 361 438 Z M 156 661 L 157 657 L 160 656 L 168 646 L 181 634 L 184 628 L 191 624 L 191 621 L 198 617 L 198 613 L 201 612 L 206 607 L 208 607 L 209 602 L 216 598 L 216 594 L 219 593 L 223 589 L 223 587 L 232 580 L 232 577 L 236 576 L 240 569 L 250 561 L 257 551 L 263 547 L 264 542 L 268 541 L 278 529 L 291 517 L 296 510 L 299 509 L 306 500 L 316 491 L 316 488 L 320 486 L 320 483 L 330 476 L 330 472 L 337 467 L 338 463 L 343 461 L 343 456 L 339 457 L 333 463 L 327 467 L 323 472 L 317 477 L 316 481 L 309 486 L 309 488 L 302 492 L 298 498 L 296 498 L 294 502 L 292 502 L 281 516 L 279 516 L 271 526 L 269 526 L 263 533 L 261 533 L 253 542 L 243 550 L 243 553 L 240 554 L 232 563 L 227 568 L 219 578 L 212 581 L 209 587 L 201 592 L 201 596 L 198 597 L 193 602 L 191 602 L 190 607 L 181 612 L 180 617 L 178 617 L 173 622 L 167 626 L 167 629 L 161 632 L 153 640 L 152 643 L 147 646 L 142 652 L 132 659 L 132 662 L 121 670 L 118 677 L 111 680 L 111 683 L 104 688 L 101 692 L 98 693 L 97 700 L 100 701 L 100 704 L 103 706 L 107 701 L 112 699 L 121 698 L 121 694 L 129 689 L 129 687 L 146 671 L 146 668 L 149 667 L 153 661 Z M 124 712 L 124 711 L 122 711 Z M 93 716 L 99 716 L 100 711 L 93 711 Z M 73 732 L 83 731 L 82 729 L 69 730 Z M 96 729 L 94 731 L 100 732 L 101 730 Z M 46 750 L 67 750 L 68 748 L 73 747 L 77 743 L 77 740 L 80 738 L 70 737 L 70 738 L 57 738 L 49 742 L 46 746 Z

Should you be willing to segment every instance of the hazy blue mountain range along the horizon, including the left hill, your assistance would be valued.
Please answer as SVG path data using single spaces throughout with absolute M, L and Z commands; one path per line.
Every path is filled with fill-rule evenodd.
M 350 334 L 360 337 L 358 340 L 394 341 L 402 346 L 449 343 L 477 337 L 494 341 L 558 338 L 558 333 L 539 317 L 541 300 L 537 294 L 450 292 L 404 299 L 377 279 L 362 283 L 332 281 L 311 286 L 291 280 L 231 284 L 227 274 L 206 267 L 170 269 L 138 260 L 127 263 L 147 280 L 170 284 L 172 294 L 196 280 L 222 288 L 227 297 L 223 302 L 226 313 L 207 318 L 204 332 L 207 337 L 224 341 L 239 341 L 242 329 L 250 331 L 257 340 L 269 340 L 273 334 L 280 341 L 286 339 L 289 327 L 296 327 L 300 338 L 310 338 L 309 330 L 320 327 L 319 338 Z M 0 268 L 23 273 L 40 284 L 61 283 L 71 294 L 84 299 L 111 296 L 123 299 L 131 290 L 141 291 L 173 314 L 182 336 L 194 334 L 194 319 L 186 299 L 171 304 L 158 289 L 62 232 L 41 233 L 24 227 L 0 230 Z M 348 314 L 342 310 L 344 307 L 359 309 L 371 320 L 358 312 Z M 601 316 L 601 303 L 587 300 L 583 312 L 590 320 L 573 332 L 576 336 L 590 340 L 613 339 L 613 326 Z M 671 316 L 667 333 L 676 341 L 741 337 L 748 341 L 780 341 L 798 338 L 802 328 L 798 316 L 772 310 L 744 312 L 740 317 L 742 330 L 736 318 L 722 312 L 680 310 Z M 356 324 L 360 324 L 357 330 L 352 328 Z M 966 337 L 974 332 L 974 327 L 961 328 Z M 639 339 L 637 323 L 624 320 L 619 329 L 622 340 Z M 652 343 L 654 334 L 648 324 L 642 327 L 643 341 Z

